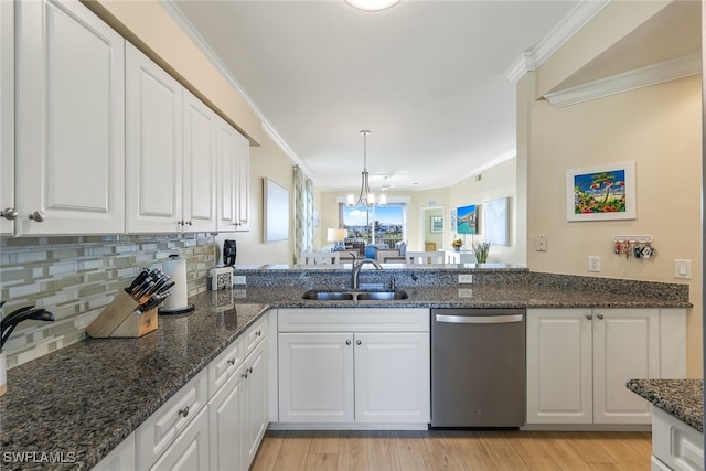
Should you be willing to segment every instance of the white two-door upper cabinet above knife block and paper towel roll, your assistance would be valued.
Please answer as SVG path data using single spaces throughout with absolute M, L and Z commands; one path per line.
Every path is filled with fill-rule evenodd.
M 216 229 L 217 115 L 127 45 L 127 231 Z

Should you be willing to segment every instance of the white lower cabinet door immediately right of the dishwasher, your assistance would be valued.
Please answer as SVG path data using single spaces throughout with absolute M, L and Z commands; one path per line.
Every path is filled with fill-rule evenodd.
M 527 310 L 527 424 L 592 422 L 591 322 L 590 309 Z

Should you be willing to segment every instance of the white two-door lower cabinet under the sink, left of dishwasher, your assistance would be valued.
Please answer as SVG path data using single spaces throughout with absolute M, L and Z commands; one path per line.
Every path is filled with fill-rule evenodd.
M 280 422 L 429 422 L 428 309 L 278 315 Z

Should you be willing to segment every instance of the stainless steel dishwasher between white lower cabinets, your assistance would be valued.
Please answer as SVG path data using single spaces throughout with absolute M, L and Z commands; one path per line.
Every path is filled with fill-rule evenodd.
M 525 310 L 431 310 L 431 427 L 525 424 Z

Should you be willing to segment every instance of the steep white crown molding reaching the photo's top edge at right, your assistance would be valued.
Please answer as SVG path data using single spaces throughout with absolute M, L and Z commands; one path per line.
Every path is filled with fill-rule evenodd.
M 505 72 L 505 78 L 516 83 L 527 72 L 535 71 L 544 61 L 564 45 L 588 23 L 610 0 L 582 0 L 536 46 L 522 53 Z

